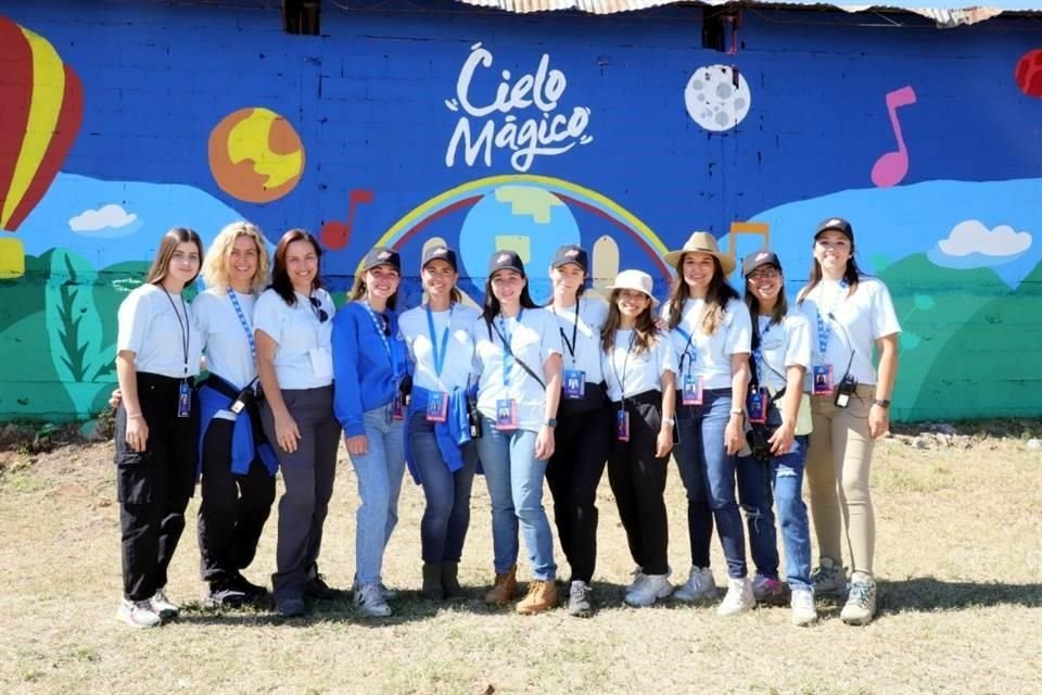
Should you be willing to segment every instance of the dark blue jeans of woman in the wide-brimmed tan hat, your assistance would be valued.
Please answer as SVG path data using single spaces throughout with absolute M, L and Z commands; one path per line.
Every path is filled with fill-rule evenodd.
M 681 393 L 677 392 L 677 404 Z M 730 419 L 730 389 L 707 389 L 701 405 L 677 405 L 679 443 L 673 456 L 687 491 L 691 564 L 709 567 L 713 520 L 727 559 L 727 574 L 746 576 L 746 535 L 735 498 L 735 457 L 724 446 Z

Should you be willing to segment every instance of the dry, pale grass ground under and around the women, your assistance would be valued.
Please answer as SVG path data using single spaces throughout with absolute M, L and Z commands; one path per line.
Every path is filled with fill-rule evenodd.
M 0 452 L 0 692 L 1035 693 L 1042 453 L 1024 439 L 980 432 L 954 445 L 926 443 L 895 438 L 877 450 L 881 603 L 878 619 L 861 629 L 844 626 L 840 605 L 827 599 L 809 629 L 790 626 L 788 608 L 723 619 L 714 606 L 624 607 L 632 563 L 607 480 L 599 612 L 579 620 L 563 610 L 520 617 L 486 608 L 480 594 L 491 581 L 492 541 L 479 478 L 461 565 L 469 601 L 419 597 L 422 495 L 407 481 L 384 572 L 403 590 L 393 617 L 363 620 L 346 601 L 292 621 L 266 610 L 205 610 L 196 497 L 168 586 L 186 604 L 182 617 L 134 631 L 113 617 L 120 581 L 111 443 Z M 354 572 L 355 481 L 342 463 L 321 557 L 335 585 Z M 668 502 L 679 580 L 688 547 L 675 470 Z M 272 569 L 274 521 L 246 572 L 254 580 Z M 558 561 L 567 576 L 560 553 Z

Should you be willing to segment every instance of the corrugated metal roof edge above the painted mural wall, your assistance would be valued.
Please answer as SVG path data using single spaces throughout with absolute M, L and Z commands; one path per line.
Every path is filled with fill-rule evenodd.
M 677 0 L 457 0 L 482 8 L 498 8 L 507 12 L 549 12 L 554 10 L 579 10 L 593 14 L 612 14 L 647 10 L 665 4 L 676 4 Z M 734 0 L 699 0 L 701 4 L 736 4 Z M 819 0 L 744 0 L 740 4 L 836 8 L 844 12 L 864 12 L 866 10 L 902 10 L 929 17 L 939 26 L 950 27 L 960 24 L 976 24 L 1003 12 L 1042 12 L 1042 2 L 1033 0 L 884 0 L 864 4 L 842 2 L 821 2 Z M 983 5 L 983 7 L 982 7 Z

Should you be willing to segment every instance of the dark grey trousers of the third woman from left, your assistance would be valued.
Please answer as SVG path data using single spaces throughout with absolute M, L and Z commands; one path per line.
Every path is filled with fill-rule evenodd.
M 271 592 L 276 599 L 300 598 L 322 546 L 322 527 L 333 496 L 340 422 L 333 417 L 333 387 L 283 390 L 282 400 L 296 420 L 301 439 L 289 454 L 275 444 L 285 492 L 279 500 L 279 536 Z M 269 442 L 278 442 L 267 403 L 260 421 Z

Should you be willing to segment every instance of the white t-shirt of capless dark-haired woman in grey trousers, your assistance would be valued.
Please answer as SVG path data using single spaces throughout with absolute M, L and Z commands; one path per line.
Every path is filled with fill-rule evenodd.
M 265 290 L 253 309 L 253 326 L 271 337 L 278 346 L 275 351 L 275 374 L 280 389 L 318 389 L 333 382 L 332 334 L 333 298 L 326 290 L 313 294 L 319 307 L 312 306 L 306 294 L 296 292 L 296 305 L 290 306 L 272 290 Z M 326 312 L 326 320 L 319 321 L 318 311 Z M 312 350 L 318 351 L 313 358 Z M 325 357 L 319 353 L 325 351 Z M 329 374 L 316 371 L 315 362 L 329 358 Z

